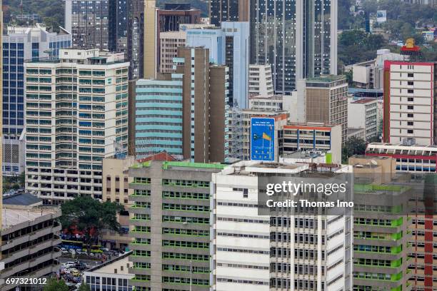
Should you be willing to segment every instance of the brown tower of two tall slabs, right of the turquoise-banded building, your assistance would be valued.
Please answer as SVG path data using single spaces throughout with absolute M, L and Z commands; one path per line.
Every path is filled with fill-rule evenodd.
M 196 163 L 228 157 L 228 68 L 209 63 L 209 50 L 179 47 L 176 73 L 183 74 L 182 153 Z

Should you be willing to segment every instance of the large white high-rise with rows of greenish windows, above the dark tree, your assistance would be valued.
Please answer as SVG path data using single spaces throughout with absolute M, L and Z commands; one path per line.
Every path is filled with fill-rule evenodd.
M 123 53 L 61 49 L 25 63 L 26 190 L 44 203 L 102 198 L 102 160 L 127 153 Z

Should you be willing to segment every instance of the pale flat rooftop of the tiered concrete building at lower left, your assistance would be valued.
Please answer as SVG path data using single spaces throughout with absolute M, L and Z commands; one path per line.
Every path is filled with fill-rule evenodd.
M 14 208 L 8 205 L 6 205 L 5 207 L 4 205 L 4 208 L 1 211 L 1 226 L 3 229 L 11 228 L 14 225 L 27 223 L 29 221 L 36 220 L 36 218 L 40 218 L 41 216 L 51 215 L 55 213 L 59 213 L 59 210 L 57 210 L 56 208 Z

